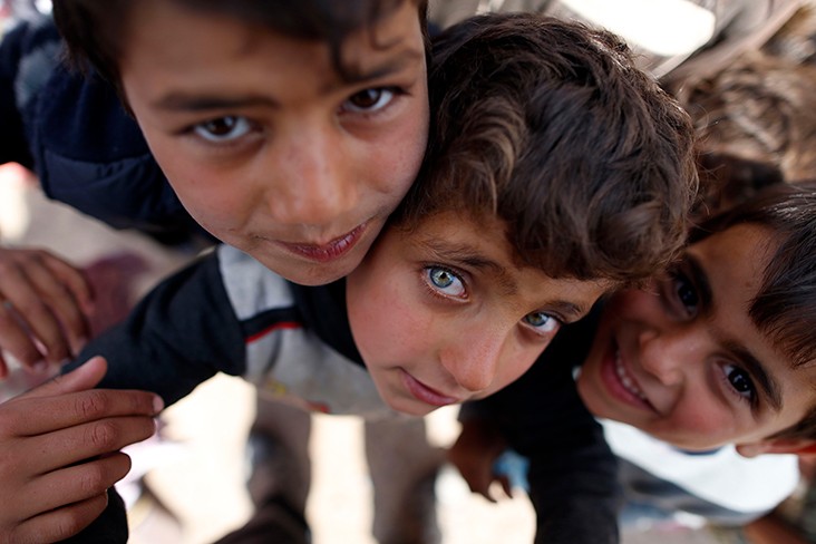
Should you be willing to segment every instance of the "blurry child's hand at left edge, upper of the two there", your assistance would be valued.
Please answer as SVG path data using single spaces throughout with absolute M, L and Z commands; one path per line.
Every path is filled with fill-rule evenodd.
M 81 271 L 42 250 L 0 247 L 0 350 L 23 366 L 76 356 L 90 336 Z M 0 351 L 0 379 L 8 373 Z

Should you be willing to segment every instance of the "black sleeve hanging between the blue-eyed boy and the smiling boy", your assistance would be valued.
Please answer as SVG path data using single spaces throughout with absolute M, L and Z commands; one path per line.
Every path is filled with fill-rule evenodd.
M 530 459 L 536 543 L 614 544 L 622 505 L 616 458 L 583 406 L 571 367 L 554 360 L 551 348 L 516 382 L 466 405 L 463 417 L 488 418 Z

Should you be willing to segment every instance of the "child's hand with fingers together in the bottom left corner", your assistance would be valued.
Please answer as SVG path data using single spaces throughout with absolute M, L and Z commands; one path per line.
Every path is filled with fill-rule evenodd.
M 130 469 L 118 449 L 153 435 L 159 398 L 91 390 L 106 369 L 90 359 L 0 405 L 0 544 L 56 542 L 88 526 Z

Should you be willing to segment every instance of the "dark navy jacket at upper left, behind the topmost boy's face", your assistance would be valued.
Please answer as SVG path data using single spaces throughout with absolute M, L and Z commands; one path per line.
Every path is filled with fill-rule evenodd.
M 50 18 L 0 42 L 0 164 L 35 171 L 45 194 L 116 229 L 204 231 L 188 216 L 115 88 L 61 64 Z

